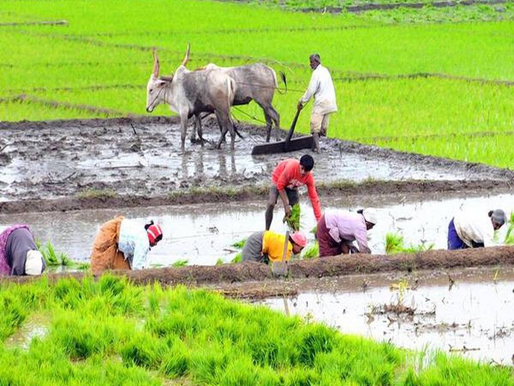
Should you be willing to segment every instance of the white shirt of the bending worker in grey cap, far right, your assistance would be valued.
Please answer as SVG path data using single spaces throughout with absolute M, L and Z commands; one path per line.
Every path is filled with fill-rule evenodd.
M 479 214 L 476 212 L 459 212 L 453 218 L 455 231 L 458 237 L 472 247 L 471 240 L 474 242 L 483 242 L 484 247 L 493 247 L 498 245 L 494 241 L 494 228 L 492 227 L 491 218 L 486 213 Z

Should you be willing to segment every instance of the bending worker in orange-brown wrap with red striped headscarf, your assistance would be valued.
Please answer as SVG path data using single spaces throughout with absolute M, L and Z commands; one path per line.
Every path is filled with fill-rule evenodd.
M 106 269 L 143 269 L 150 248 L 160 240 L 161 227 L 153 221 L 143 226 L 118 216 L 100 227 L 93 243 L 91 270 L 98 274 Z

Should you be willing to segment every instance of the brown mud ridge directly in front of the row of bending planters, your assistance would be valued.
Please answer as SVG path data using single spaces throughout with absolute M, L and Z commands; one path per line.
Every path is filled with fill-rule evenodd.
M 335 277 L 351 274 L 371 274 L 380 272 L 412 272 L 429 269 L 450 269 L 464 267 L 482 267 L 514 265 L 514 247 L 476 248 L 459 251 L 432 250 L 415 254 L 397 255 L 341 255 L 309 260 L 296 260 L 289 264 L 289 283 L 295 279 Z M 232 283 L 272 279 L 270 268 L 264 264 L 246 262 L 225 264 L 222 266 L 189 266 L 181 268 L 159 268 L 141 271 L 113 271 L 114 274 L 126 276 L 135 284 L 160 283 L 162 285 L 186 284 L 203 286 L 223 284 L 218 289 L 234 296 L 245 295 L 244 289 L 230 289 Z M 50 280 L 62 277 L 81 278 L 87 273 L 48 274 Z M 24 283 L 36 278 L 13 276 L 4 278 L 10 282 Z M 266 286 L 263 283 L 263 286 Z M 269 289 L 276 293 L 295 293 L 298 289 L 291 285 L 282 289 Z M 246 295 L 256 296 L 255 289 Z M 265 290 L 262 290 L 266 293 Z

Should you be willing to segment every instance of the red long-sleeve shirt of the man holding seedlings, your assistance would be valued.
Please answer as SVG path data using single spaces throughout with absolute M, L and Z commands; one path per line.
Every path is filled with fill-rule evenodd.
M 305 176 L 302 176 L 300 173 L 300 161 L 295 159 L 281 161 L 273 170 L 271 181 L 277 186 L 279 191 L 286 187 L 295 189 L 299 186 L 307 185 L 307 193 L 310 203 L 313 205 L 314 216 L 316 220 L 321 218 L 320 199 L 316 191 L 313 173 L 309 171 Z

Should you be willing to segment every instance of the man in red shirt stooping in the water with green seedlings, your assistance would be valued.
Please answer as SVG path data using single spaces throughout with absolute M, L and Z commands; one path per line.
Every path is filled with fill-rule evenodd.
M 269 188 L 268 207 L 266 209 L 266 231 L 271 226 L 273 220 L 273 209 L 280 196 L 284 204 L 286 217 L 291 215 L 291 206 L 298 202 L 298 187 L 307 185 L 307 192 L 311 204 L 313 204 L 314 216 L 316 221 L 321 218 L 320 199 L 316 192 L 313 170 L 314 159 L 308 154 L 302 155 L 300 161 L 288 159 L 281 161 L 273 174 L 271 174 L 271 187 Z

